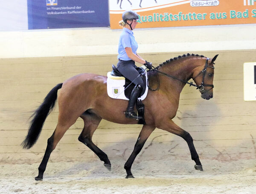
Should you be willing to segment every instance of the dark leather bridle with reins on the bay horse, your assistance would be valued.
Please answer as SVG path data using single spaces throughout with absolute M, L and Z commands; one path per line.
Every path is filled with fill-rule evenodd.
M 204 65 L 204 69 L 201 70 L 201 72 L 199 72 L 198 75 L 196 75 L 194 78 L 192 78 L 192 79 L 195 81 L 195 78 L 197 78 L 201 73 L 203 73 L 202 82 L 201 82 L 201 85 L 199 85 L 199 86 L 197 86 L 196 84 L 193 84 L 192 81 L 191 81 L 191 82 L 184 81 L 184 80 L 181 80 L 181 79 L 179 79 L 179 78 L 176 78 L 176 77 L 173 76 L 173 75 L 169 75 L 169 74 L 167 74 L 167 73 L 160 72 L 160 71 L 158 71 L 157 69 L 155 69 L 153 66 L 152 66 L 153 69 L 151 69 L 150 71 L 156 71 L 156 72 L 158 72 L 158 73 L 160 73 L 160 74 L 163 74 L 163 75 L 165 75 L 165 76 L 167 76 L 167 77 L 170 77 L 170 78 L 179 80 L 179 81 L 181 81 L 181 82 L 183 82 L 183 83 L 185 83 L 185 84 L 189 84 L 189 86 L 194 86 L 194 87 L 196 87 L 196 89 L 200 90 L 201 93 L 205 93 L 205 92 L 207 92 L 207 91 L 209 91 L 209 90 L 212 90 L 212 88 L 214 88 L 213 84 L 204 84 L 204 78 L 205 78 L 205 75 L 206 75 L 207 67 L 210 67 L 210 68 L 212 68 L 212 69 L 215 69 L 215 67 L 213 67 L 213 66 L 208 66 L 208 61 L 209 61 L 209 58 L 206 59 L 206 62 L 205 62 L 205 65 Z M 207 90 L 207 91 L 204 91 L 204 87 L 207 87 L 207 86 L 209 86 L 209 87 L 211 87 L 211 88 L 210 88 L 209 90 Z M 148 86 L 148 88 L 149 88 L 151 91 L 156 91 L 156 90 L 159 89 L 159 87 L 160 87 L 160 84 L 157 86 L 157 89 L 154 90 L 154 89 L 152 89 L 152 88 L 150 88 L 150 87 Z

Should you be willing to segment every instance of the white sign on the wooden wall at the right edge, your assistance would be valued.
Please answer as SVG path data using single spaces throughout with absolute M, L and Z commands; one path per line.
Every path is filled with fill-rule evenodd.
M 256 62 L 244 63 L 244 101 L 256 101 Z

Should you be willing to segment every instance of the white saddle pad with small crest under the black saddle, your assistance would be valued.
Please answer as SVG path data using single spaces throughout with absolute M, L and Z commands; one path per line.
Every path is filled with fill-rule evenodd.
M 141 66 L 143 69 L 145 69 L 145 66 Z M 125 77 L 117 77 L 111 75 L 111 72 L 108 72 L 107 74 L 107 90 L 108 90 L 108 96 L 115 99 L 123 99 L 123 100 L 129 100 L 125 97 Z M 145 77 L 146 77 L 146 83 L 148 81 L 147 71 L 145 70 Z M 145 93 L 138 99 L 144 100 L 148 94 L 148 86 L 146 84 Z

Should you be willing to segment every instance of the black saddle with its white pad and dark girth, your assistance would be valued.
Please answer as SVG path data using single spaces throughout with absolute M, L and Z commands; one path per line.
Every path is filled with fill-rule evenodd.
M 136 108 L 138 111 L 138 116 L 142 116 L 143 119 L 139 119 L 138 124 L 145 125 L 145 119 L 144 119 L 144 104 L 142 103 L 142 100 L 144 100 L 148 93 L 148 87 L 147 87 L 147 72 L 146 67 L 137 67 L 137 71 L 140 73 L 141 78 L 143 79 L 143 90 L 140 92 L 140 95 L 136 102 Z M 135 84 L 131 83 L 130 80 L 125 78 L 116 68 L 115 65 L 112 65 L 112 72 L 108 72 L 108 79 L 107 79 L 107 90 L 108 90 L 108 96 L 111 98 L 116 99 L 125 99 L 129 100 L 131 96 L 131 92 L 134 89 Z

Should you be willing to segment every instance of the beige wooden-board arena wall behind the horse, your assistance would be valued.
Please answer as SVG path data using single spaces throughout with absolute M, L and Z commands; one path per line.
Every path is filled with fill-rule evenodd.
M 145 52 L 141 55 L 157 66 L 169 58 L 191 51 L 183 49 L 182 52 Z M 204 49 L 211 50 L 211 46 Z M 194 87 L 185 86 L 174 122 L 191 134 L 202 159 L 255 158 L 255 102 L 243 99 L 243 64 L 256 61 L 256 50 L 194 50 L 193 53 L 209 58 L 219 54 L 215 64 L 214 98 L 206 101 Z M 41 162 L 47 139 L 57 124 L 58 107 L 48 116 L 34 147 L 23 150 L 20 143 L 26 136 L 29 117 L 49 90 L 81 72 L 106 75 L 111 71 L 111 64 L 117 62 L 116 54 L 27 58 L 24 53 L 23 57 L 0 59 L 0 162 Z M 50 160 L 75 158 L 99 161 L 89 148 L 78 141 L 82 127 L 83 122 L 78 119 L 61 139 Z M 102 120 L 93 135 L 93 142 L 105 151 L 110 159 L 128 159 L 141 127 L 118 125 Z M 183 139 L 156 129 L 138 157 L 183 157 L 189 160 L 190 154 Z

